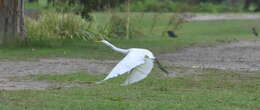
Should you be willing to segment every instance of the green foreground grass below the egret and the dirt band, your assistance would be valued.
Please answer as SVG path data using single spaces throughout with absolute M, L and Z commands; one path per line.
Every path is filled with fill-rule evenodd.
M 166 78 L 156 74 L 131 86 L 124 77 L 104 84 L 45 91 L 0 91 L 1 110 L 258 110 L 260 74 L 199 70 L 205 74 Z M 84 73 L 34 75 L 34 80 L 93 82 Z

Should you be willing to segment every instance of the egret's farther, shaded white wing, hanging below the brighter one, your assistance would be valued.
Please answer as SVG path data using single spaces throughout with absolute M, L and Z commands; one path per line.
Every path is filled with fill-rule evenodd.
M 148 76 L 153 69 L 153 59 L 145 58 L 145 63 L 134 68 L 123 85 L 137 83 Z

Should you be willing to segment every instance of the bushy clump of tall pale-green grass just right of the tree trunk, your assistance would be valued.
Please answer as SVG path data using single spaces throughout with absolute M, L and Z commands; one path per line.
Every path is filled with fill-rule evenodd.
M 29 40 L 91 40 L 97 39 L 91 32 L 91 23 L 75 14 L 48 12 L 38 19 L 26 18 Z

